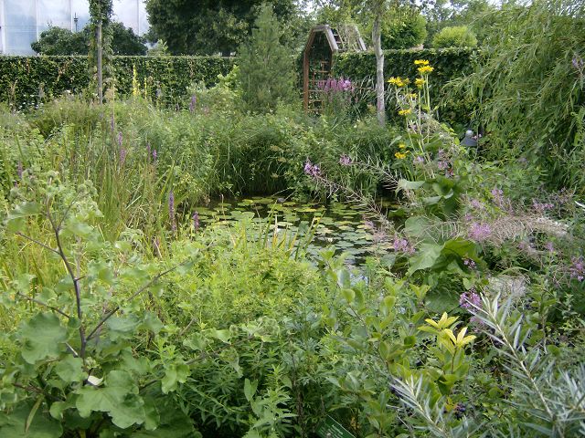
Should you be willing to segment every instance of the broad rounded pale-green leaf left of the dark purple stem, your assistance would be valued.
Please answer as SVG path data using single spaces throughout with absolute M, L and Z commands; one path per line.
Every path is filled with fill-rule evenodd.
M 56 358 L 67 340 L 67 328 L 61 326 L 52 313 L 39 313 L 20 331 L 21 354 L 24 360 L 35 364 L 38 360 Z

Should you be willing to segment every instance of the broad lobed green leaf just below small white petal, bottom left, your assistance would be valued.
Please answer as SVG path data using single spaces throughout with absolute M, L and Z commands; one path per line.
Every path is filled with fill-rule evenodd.
M 83 418 L 91 412 L 106 412 L 122 429 L 145 421 L 144 401 L 138 395 L 133 377 L 126 371 L 110 371 L 102 388 L 84 386 L 76 393 L 79 397 L 75 406 Z

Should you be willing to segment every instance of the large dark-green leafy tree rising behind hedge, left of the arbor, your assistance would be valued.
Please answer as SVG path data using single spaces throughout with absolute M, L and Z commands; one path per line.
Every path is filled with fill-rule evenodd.
M 262 0 L 146 0 L 156 39 L 174 55 L 229 56 L 249 35 Z M 294 0 L 268 2 L 282 20 L 296 14 Z

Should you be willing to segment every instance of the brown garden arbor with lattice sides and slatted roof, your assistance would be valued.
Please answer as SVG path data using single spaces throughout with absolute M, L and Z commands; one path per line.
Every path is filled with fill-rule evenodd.
M 320 84 L 330 78 L 335 54 L 364 50 L 366 44 L 356 26 L 314 26 L 303 52 L 304 110 L 321 112 L 324 89 Z

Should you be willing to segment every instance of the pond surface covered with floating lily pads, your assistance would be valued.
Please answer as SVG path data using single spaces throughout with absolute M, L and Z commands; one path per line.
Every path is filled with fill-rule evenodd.
M 393 205 L 381 203 L 384 209 Z M 195 209 L 201 227 L 217 227 L 249 220 L 265 224 L 268 237 L 293 238 L 297 242 L 313 235 L 306 245 L 309 255 L 318 255 L 325 247 L 334 247 L 337 254 L 345 252 L 347 262 L 359 265 L 367 255 L 384 255 L 391 243 L 380 242 L 376 235 L 377 221 L 363 207 L 348 203 L 297 203 L 276 197 L 250 197 L 212 201 Z M 374 227 L 372 227 L 374 224 Z

